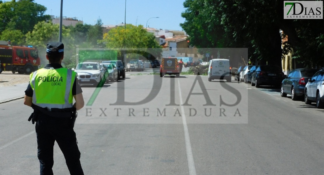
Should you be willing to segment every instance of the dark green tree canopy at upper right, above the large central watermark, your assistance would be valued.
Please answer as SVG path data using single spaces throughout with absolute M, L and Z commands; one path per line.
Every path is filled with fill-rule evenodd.
M 284 20 L 282 1 L 186 0 L 183 5 L 185 22 L 180 26 L 192 45 L 248 48 L 250 59 L 277 65 L 281 65 L 282 54 L 294 49 L 294 58 L 323 65 L 324 23 L 320 19 Z M 288 42 L 282 50 L 285 35 Z

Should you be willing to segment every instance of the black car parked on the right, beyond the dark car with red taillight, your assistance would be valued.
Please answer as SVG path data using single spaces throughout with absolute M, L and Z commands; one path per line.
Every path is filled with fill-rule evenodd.
M 251 85 L 260 87 L 263 85 L 280 87 L 284 72 L 282 68 L 275 65 L 260 65 L 252 73 Z

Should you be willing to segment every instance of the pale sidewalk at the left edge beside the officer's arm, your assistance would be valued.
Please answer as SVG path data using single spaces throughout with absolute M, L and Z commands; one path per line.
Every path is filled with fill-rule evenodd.
M 24 98 L 28 83 L 0 87 L 0 104 Z

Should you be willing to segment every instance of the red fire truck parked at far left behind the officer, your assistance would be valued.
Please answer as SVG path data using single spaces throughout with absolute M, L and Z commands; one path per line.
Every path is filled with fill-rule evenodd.
M 0 73 L 2 71 L 30 74 L 38 70 L 41 59 L 38 51 L 31 47 L 0 45 Z

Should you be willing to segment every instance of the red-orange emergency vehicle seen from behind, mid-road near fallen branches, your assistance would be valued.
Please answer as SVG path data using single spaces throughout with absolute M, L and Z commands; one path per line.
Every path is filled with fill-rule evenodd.
M 176 57 L 162 58 L 160 77 L 163 77 L 165 74 L 180 76 L 179 63 Z

